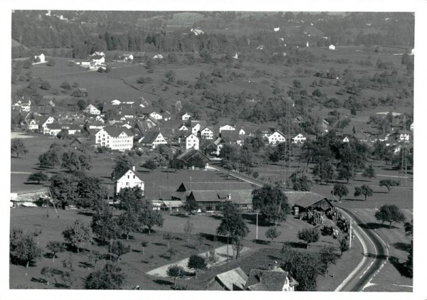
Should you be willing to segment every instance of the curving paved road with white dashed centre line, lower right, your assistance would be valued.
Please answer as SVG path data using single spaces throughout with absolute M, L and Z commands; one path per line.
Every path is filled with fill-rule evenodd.
M 363 258 L 357 267 L 344 279 L 335 291 L 363 291 L 374 274 L 381 269 L 389 256 L 389 248 L 374 230 L 367 229 L 364 220 L 347 208 L 337 207 L 343 215 L 352 220 L 353 232 L 362 243 Z

